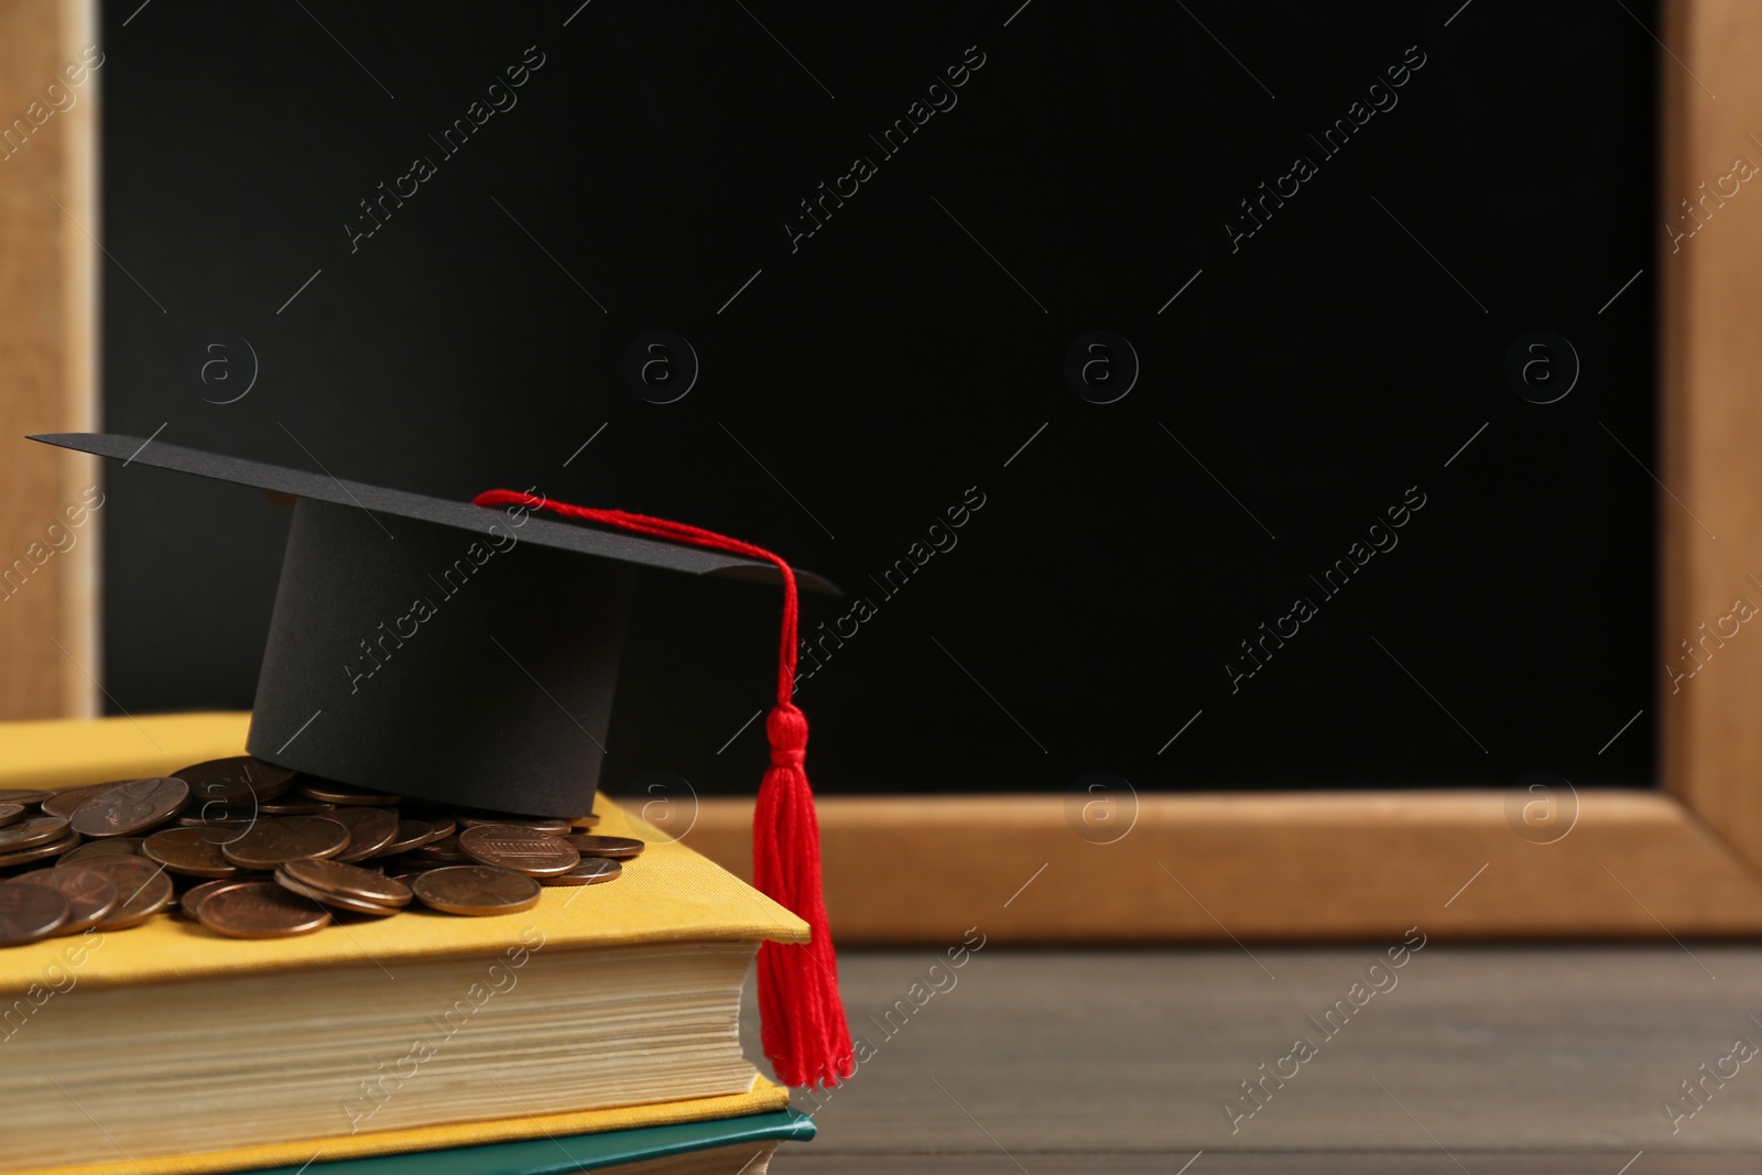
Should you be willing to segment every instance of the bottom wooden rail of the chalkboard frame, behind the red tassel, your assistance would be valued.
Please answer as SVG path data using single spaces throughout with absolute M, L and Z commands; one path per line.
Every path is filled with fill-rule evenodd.
M 1505 791 L 1147 794 L 1117 840 L 1062 796 L 819 800 L 846 944 L 1737 935 L 1762 883 L 1681 803 L 1586 791 L 1521 835 Z M 633 805 L 634 807 L 634 805 Z M 640 809 L 638 809 L 640 810 Z M 648 810 L 751 877 L 751 800 Z M 657 819 L 657 817 L 668 819 Z

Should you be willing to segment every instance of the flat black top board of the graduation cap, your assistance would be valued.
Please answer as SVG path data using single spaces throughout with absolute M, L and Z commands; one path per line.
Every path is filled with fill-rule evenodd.
M 389 518 L 414 518 L 419 521 L 440 523 L 460 530 L 488 532 L 492 525 L 502 521 L 502 513 L 485 509 L 469 502 L 451 502 L 426 493 L 407 493 L 403 490 L 386 490 L 359 481 L 344 481 L 328 474 L 314 474 L 285 465 L 266 465 L 220 453 L 185 449 L 162 440 L 143 440 L 141 437 L 122 437 L 116 433 L 39 433 L 30 437 L 44 444 L 63 449 L 79 449 L 111 456 L 127 463 L 152 465 L 153 469 L 171 469 L 180 474 L 231 481 L 240 486 L 254 486 L 271 493 L 289 493 L 298 499 L 333 502 L 337 506 L 354 506 L 370 514 Z M 488 486 L 485 486 L 488 488 Z M 657 543 L 613 530 L 597 530 L 578 523 L 552 521 L 534 516 L 522 530 L 522 541 L 539 546 L 553 546 L 562 551 L 580 555 L 597 555 L 615 558 L 641 567 L 661 567 L 666 571 L 684 571 L 696 576 L 721 576 L 731 580 L 756 580 L 775 583 L 777 569 L 770 564 L 721 551 L 707 551 L 694 546 L 677 546 Z M 796 583 L 812 592 L 839 594 L 839 588 L 812 571 L 795 569 Z

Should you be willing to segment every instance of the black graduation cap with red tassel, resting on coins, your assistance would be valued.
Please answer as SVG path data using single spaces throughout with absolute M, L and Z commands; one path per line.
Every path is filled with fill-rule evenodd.
M 534 816 L 592 807 L 636 571 L 784 588 L 754 884 L 809 923 L 759 951 L 765 1052 L 789 1085 L 855 1069 L 819 884 L 819 828 L 791 701 L 796 583 L 765 548 L 684 523 L 492 490 L 472 504 L 109 433 L 46 444 L 294 500 L 247 750 L 403 796 Z M 541 518 L 559 514 L 581 527 Z

